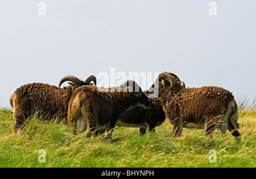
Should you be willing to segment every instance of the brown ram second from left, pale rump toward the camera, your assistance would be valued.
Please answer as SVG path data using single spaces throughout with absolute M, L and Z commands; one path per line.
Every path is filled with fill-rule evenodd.
M 129 92 L 123 91 L 129 88 Z M 106 89 L 96 86 L 82 86 L 71 96 L 68 107 L 68 123 L 71 133 L 86 130 L 85 136 L 90 137 L 93 131 L 107 131 L 110 137 L 119 115 L 133 106 L 147 109 L 150 106 L 148 98 L 133 80 L 127 80 L 120 87 Z

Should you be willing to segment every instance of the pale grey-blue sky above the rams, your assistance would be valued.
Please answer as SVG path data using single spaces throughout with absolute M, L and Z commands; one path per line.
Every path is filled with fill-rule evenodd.
M 102 73 L 168 71 L 255 99 L 255 19 L 254 0 L 0 0 L 0 108 L 24 84 Z

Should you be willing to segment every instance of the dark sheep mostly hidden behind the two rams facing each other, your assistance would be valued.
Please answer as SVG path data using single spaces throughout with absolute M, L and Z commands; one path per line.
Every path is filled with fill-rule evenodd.
M 181 81 L 181 85 L 185 88 L 185 83 Z M 151 86 L 154 88 L 154 84 Z M 148 91 L 144 91 L 147 95 Z M 161 125 L 166 116 L 163 111 L 163 106 L 159 98 L 150 98 L 150 107 L 143 109 L 141 107 L 134 107 L 123 112 L 116 125 L 122 127 L 139 127 L 139 135 L 145 134 L 146 129 L 149 132 L 155 131 L 155 127 Z

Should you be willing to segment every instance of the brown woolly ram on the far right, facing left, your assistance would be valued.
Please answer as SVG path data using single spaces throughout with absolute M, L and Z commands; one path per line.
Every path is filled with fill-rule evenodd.
M 212 137 L 217 128 L 223 134 L 229 130 L 236 142 L 241 140 L 237 103 L 232 92 L 224 88 L 184 88 L 175 74 L 163 72 L 148 96 L 160 97 L 166 118 L 174 125 L 173 137 L 178 137 L 183 127 L 204 129 Z

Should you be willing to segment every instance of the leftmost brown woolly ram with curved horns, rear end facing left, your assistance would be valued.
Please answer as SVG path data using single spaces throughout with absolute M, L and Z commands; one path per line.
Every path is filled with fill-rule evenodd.
M 60 89 L 60 85 L 65 81 L 71 81 L 69 87 Z M 66 119 L 68 114 L 68 102 L 73 91 L 77 87 L 88 85 L 90 82 L 96 84 L 96 77 L 89 76 L 83 82 L 75 76 L 64 76 L 59 83 L 59 89 L 44 83 L 30 83 L 19 87 L 10 97 L 10 104 L 13 107 L 15 124 L 13 126 L 13 134 L 22 129 L 22 125 L 26 118 L 33 112 L 39 111 L 46 114 L 46 118 L 57 117 Z

